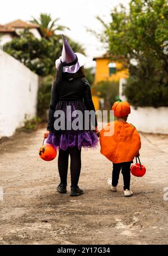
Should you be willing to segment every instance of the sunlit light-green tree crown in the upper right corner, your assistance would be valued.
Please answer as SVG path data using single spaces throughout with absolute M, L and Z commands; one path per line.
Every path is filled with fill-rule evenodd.
M 111 13 L 112 22 L 106 33 L 111 52 L 129 59 L 143 57 L 149 50 L 162 55 L 167 39 L 168 6 L 166 0 L 132 0 L 129 12 L 121 6 Z

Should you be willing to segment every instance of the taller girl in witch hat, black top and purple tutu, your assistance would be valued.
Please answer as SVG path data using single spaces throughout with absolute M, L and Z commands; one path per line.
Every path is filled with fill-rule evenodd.
M 80 57 L 73 52 L 63 35 L 62 56 L 55 61 L 57 76 L 52 85 L 49 121 L 44 133 L 44 138 L 48 138 L 46 142 L 59 149 L 60 184 L 57 191 L 60 193 L 67 192 L 68 158 L 69 155 L 71 157 L 71 196 L 83 194 L 83 190 L 78 187 L 81 147 L 95 147 L 99 141 L 96 116 L 92 118 L 92 123 L 88 115 L 89 120 L 86 120 L 86 110 L 92 110 L 95 114 L 95 107 Z M 78 113 L 82 115 L 76 121 Z M 73 123 L 77 124 L 75 128 Z

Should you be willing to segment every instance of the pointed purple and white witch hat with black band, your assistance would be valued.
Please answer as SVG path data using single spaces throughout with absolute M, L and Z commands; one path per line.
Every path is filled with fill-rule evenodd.
M 74 53 L 71 46 L 69 46 L 66 37 L 64 37 L 64 35 L 62 35 L 62 37 L 62 55 L 61 57 L 59 57 L 58 60 L 55 61 L 55 66 L 58 69 L 59 65 L 62 64 L 63 72 L 76 73 L 80 69 L 80 67 L 84 65 L 85 56 L 83 56 L 81 53 Z

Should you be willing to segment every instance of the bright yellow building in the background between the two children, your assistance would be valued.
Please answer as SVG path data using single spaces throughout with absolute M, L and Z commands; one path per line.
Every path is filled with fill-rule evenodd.
M 120 78 L 128 78 L 128 69 L 123 69 L 123 64 L 118 61 L 111 61 L 107 54 L 95 57 L 94 60 L 96 61 L 95 85 L 101 81 L 119 82 Z M 100 98 L 95 96 L 94 92 L 92 95 L 95 109 L 98 110 Z

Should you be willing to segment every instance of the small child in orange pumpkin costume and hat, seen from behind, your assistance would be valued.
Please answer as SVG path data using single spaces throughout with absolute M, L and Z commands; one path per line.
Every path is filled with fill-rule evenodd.
M 136 128 L 127 123 L 130 114 L 130 105 L 127 101 L 116 101 L 112 107 L 116 120 L 109 123 L 100 132 L 101 154 L 113 162 L 112 180 L 108 185 L 116 191 L 120 170 L 122 169 L 124 181 L 124 195 L 132 196 L 130 190 L 130 164 L 135 156 L 139 156 L 141 139 Z M 109 132 L 109 134 L 107 133 Z

